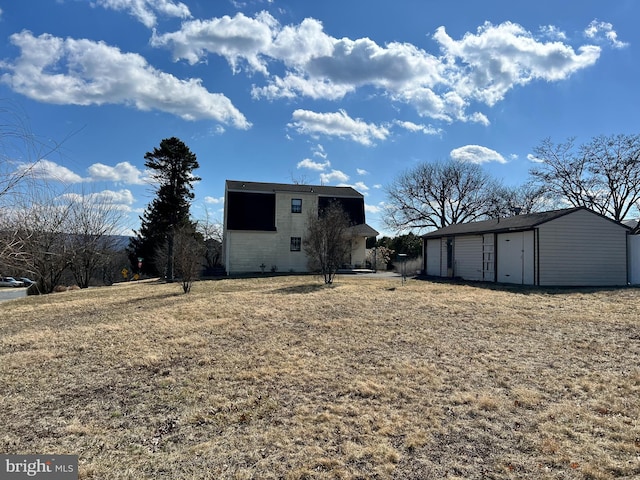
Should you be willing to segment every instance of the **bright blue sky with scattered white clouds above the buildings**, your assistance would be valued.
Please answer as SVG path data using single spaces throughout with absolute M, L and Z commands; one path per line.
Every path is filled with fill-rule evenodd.
M 546 137 L 638 133 L 640 2 L 0 0 L 0 99 L 60 144 L 38 167 L 126 213 L 178 137 L 222 218 L 224 181 L 351 185 L 382 221 L 417 163 L 527 178 Z M 16 155 L 24 168 L 35 160 Z

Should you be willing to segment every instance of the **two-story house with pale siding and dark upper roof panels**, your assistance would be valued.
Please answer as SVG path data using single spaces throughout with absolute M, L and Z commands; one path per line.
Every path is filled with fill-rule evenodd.
M 365 223 L 364 196 L 355 189 L 227 180 L 222 242 L 227 274 L 307 272 L 303 241 L 309 216 L 332 201 L 353 225 L 347 264 L 364 267 L 366 239 L 378 232 Z

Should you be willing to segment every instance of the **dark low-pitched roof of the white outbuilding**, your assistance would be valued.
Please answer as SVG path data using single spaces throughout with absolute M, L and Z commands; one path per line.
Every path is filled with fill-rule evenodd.
M 440 238 L 452 235 L 472 235 L 480 233 L 498 233 L 530 230 L 538 225 L 555 220 L 556 218 L 569 215 L 578 210 L 586 210 L 594 215 L 601 216 L 603 219 L 613 222 L 613 220 L 593 212 L 585 207 L 565 208 L 562 210 L 550 210 L 548 212 L 529 213 L 527 215 L 514 215 L 507 218 L 492 218 L 481 222 L 458 223 L 447 227 L 429 232 L 422 238 Z M 629 228 L 626 225 L 614 222 L 622 227 Z

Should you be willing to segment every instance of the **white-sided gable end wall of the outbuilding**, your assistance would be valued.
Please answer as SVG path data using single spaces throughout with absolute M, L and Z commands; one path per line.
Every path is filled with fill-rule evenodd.
M 627 230 L 586 210 L 539 227 L 540 285 L 627 283 Z

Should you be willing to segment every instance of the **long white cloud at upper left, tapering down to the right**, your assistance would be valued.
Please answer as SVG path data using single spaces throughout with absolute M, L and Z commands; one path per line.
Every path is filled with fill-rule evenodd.
M 34 37 L 28 31 L 10 38 L 21 54 L 13 65 L 1 64 L 11 73 L 0 78 L 31 99 L 62 105 L 125 104 L 185 120 L 251 126 L 227 97 L 209 93 L 199 79 L 181 80 L 158 71 L 138 54 L 91 40 Z

